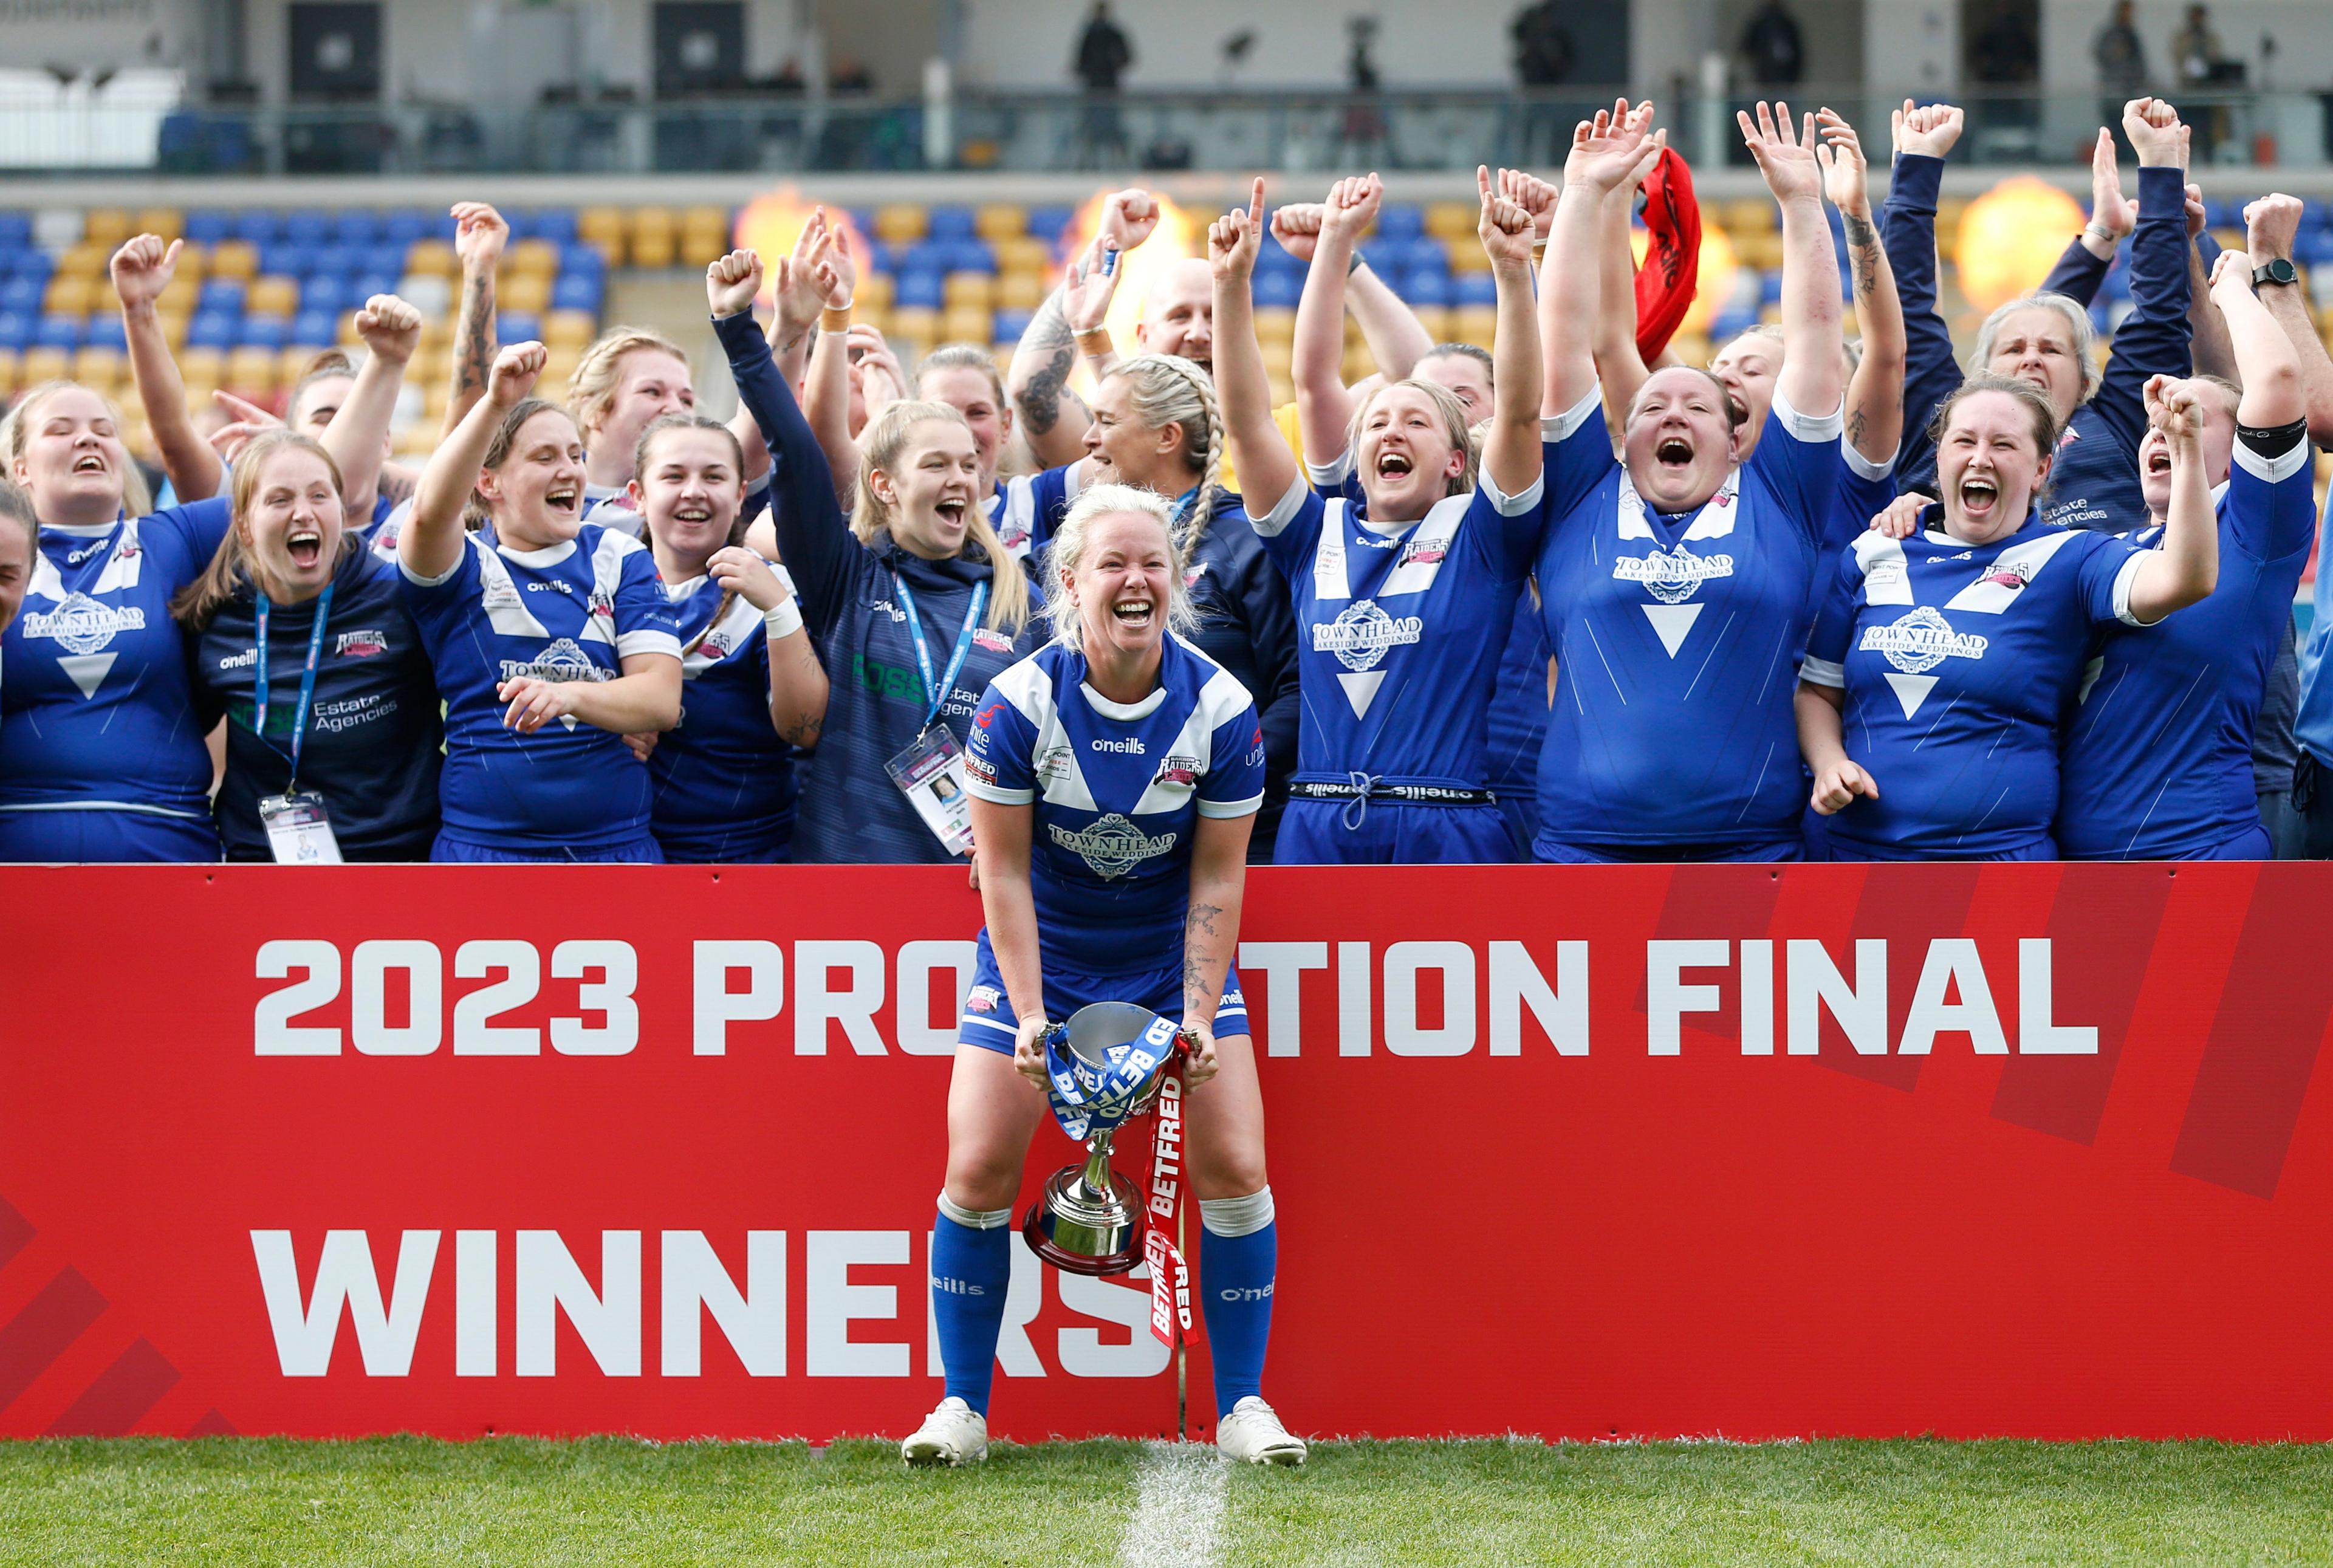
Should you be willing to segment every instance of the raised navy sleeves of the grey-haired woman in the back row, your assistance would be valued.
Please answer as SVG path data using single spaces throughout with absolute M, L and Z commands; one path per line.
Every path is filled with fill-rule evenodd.
M 1936 191 L 1943 159 L 1906 152 L 1894 161 L 1880 240 L 1904 301 L 1908 359 L 1904 366 L 1904 448 L 1897 476 L 1906 490 L 1936 495 L 1936 443 L 1927 422 L 1962 383 L 1953 336 L 1936 310 Z M 2186 175 L 2177 168 L 2139 170 L 2139 226 L 2130 236 L 2132 310 L 2114 331 L 2097 392 L 2058 439 L 2044 520 L 2067 527 L 2139 527 L 2139 436 L 2146 434 L 2144 387 L 2151 376 L 2188 376 L 2188 238 Z

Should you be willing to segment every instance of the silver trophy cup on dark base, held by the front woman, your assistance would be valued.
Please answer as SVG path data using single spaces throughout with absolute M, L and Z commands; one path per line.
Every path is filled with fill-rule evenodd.
M 1146 1043 L 1143 1036 L 1162 1020 L 1132 1001 L 1097 1001 L 1078 1008 L 1066 1024 L 1055 1027 L 1050 1045 L 1066 1050 L 1071 1071 L 1111 1071 L 1111 1050 Z M 1146 1113 L 1160 1097 L 1160 1080 L 1173 1059 L 1171 1041 L 1157 1050 L 1148 1078 L 1127 1085 L 1106 1101 L 1085 1106 L 1085 1164 L 1066 1164 L 1045 1178 L 1045 1190 L 1022 1220 L 1029 1248 L 1057 1269 L 1071 1274 L 1127 1274 L 1143 1260 L 1141 1188 L 1111 1169 L 1111 1143 L 1118 1127 Z M 1071 1111 L 1055 1101 L 1055 1113 L 1069 1125 Z M 1076 1132 L 1071 1132 L 1076 1136 Z

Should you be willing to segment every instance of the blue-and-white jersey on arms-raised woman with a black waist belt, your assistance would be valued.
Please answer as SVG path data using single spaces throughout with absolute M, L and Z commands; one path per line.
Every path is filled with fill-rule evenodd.
M 1540 499 L 1540 478 L 1509 497 L 1484 474 L 1414 523 L 1379 523 L 1299 476 L 1250 516 L 1297 623 L 1302 730 L 1281 863 L 1507 859 L 1486 789 L 1488 709 Z

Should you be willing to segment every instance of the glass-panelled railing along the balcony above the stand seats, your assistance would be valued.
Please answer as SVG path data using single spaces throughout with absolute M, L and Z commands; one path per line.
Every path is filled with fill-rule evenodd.
M 432 175 L 432 173 L 847 173 L 847 170 L 1458 170 L 1554 163 L 1572 124 L 1617 89 L 1484 91 L 1157 91 L 971 93 L 938 100 L 700 98 L 558 103 L 497 110 L 457 103 L 198 107 L 0 103 L 0 170 L 16 175 Z M 1866 142 L 1885 135 L 1890 96 L 1820 84 Z M 2083 159 L 2118 105 L 2100 93 L 1967 93 L 1955 161 Z M 1673 93 L 1663 124 L 1696 166 L 1747 166 L 1733 110 L 1752 103 Z M 2221 91 L 2179 98 L 2209 163 L 2321 166 L 2333 159 L 2333 93 Z M 1878 147 L 1873 147 L 1878 152 Z

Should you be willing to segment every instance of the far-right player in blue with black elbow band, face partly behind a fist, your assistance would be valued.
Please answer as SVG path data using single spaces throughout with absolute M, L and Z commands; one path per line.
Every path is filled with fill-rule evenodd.
M 2291 646 L 2293 593 L 2317 544 L 2317 476 L 2300 357 L 2251 292 L 2251 257 L 2221 252 L 2212 299 L 2228 317 L 2242 390 L 2191 380 L 2202 408 L 2202 474 L 2219 527 L 2219 583 L 2170 625 L 2109 632 L 2065 740 L 2058 847 L 2067 859 L 2265 861 L 2254 737 L 2270 670 Z M 2149 523 L 2163 548 L 2172 504 L 2167 406 L 2139 443 Z M 2289 777 L 2289 775 L 2286 775 Z

